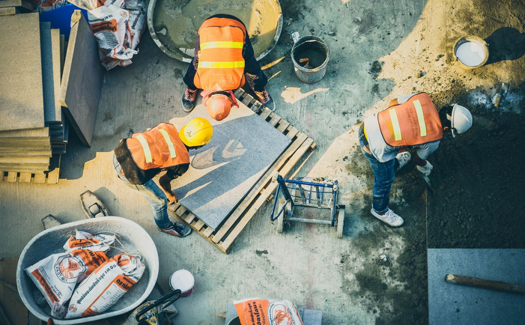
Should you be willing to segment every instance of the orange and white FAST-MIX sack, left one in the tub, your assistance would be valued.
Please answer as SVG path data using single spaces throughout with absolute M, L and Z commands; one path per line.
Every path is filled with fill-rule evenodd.
M 64 318 L 64 305 L 71 298 L 77 282 L 85 279 L 107 260 L 103 251 L 77 249 L 48 256 L 25 271 L 51 306 L 51 316 Z

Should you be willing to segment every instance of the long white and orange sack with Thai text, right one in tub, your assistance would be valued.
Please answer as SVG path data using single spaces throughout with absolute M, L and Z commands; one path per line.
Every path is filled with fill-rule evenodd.
M 108 310 L 140 280 L 145 269 L 140 257 L 114 256 L 78 285 L 69 302 L 66 319 Z

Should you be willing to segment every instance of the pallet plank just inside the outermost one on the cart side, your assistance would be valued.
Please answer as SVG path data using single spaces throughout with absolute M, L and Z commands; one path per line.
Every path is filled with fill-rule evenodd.
M 245 209 L 250 205 L 251 201 L 255 199 L 255 197 L 259 194 L 259 192 L 264 188 L 264 186 L 271 180 L 271 177 L 273 176 L 274 172 L 276 170 L 280 169 L 280 166 L 284 164 L 288 157 L 292 156 L 293 153 L 295 153 L 302 143 L 307 140 L 306 134 L 302 134 L 301 137 L 299 137 L 296 141 L 292 142 L 288 148 L 283 152 L 278 160 L 272 165 L 266 173 L 260 178 L 259 182 L 255 184 L 254 187 L 251 188 L 250 192 L 245 196 L 244 200 L 239 203 L 237 208 L 234 210 L 232 214 L 226 219 L 223 226 L 218 229 L 216 232 L 213 242 L 218 243 L 220 239 L 226 234 L 229 228 L 231 228 L 234 223 L 237 221 L 237 219 L 240 217 L 240 215 L 245 211 Z

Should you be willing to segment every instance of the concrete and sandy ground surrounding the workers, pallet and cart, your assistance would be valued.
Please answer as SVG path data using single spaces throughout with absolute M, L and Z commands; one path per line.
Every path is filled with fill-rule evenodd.
M 62 222 L 83 218 L 78 195 L 90 189 L 110 210 L 138 222 L 161 257 L 159 281 L 191 270 L 192 296 L 176 302 L 179 324 L 224 324 L 216 313 L 246 297 L 286 298 L 323 311 L 323 324 L 425 324 L 426 248 L 525 247 L 519 182 L 523 179 L 523 23 L 520 1 L 281 1 L 285 24 L 262 64 L 277 113 L 318 144 L 302 174 L 341 184 L 347 205 L 344 238 L 322 226 L 294 224 L 277 234 L 270 204 L 240 234 L 229 255 L 202 237 L 159 233 L 150 207 L 113 176 L 110 151 L 133 130 L 173 117 L 180 109 L 186 64 L 160 51 L 147 32 L 133 64 L 106 74 L 95 139 L 90 149 L 68 147 L 58 185 L 0 184 L 3 221 L 0 256 L 17 256 L 53 214 Z M 331 50 L 327 75 L 305 85 L 293 74 L 289 32 L 323 38 Z M 491 40 L 489 64 L 463 70 L 451 48 L 474 34 Z M 499 82 L 509 93 L 495 109 Z M 401 228 L 374 219 L 373 176 L 356 144 L 355 124 L 397 96 L 426 91 L 438 107 L 460 102 L 475 117 L 464 137 L 445 139 L 429 161 L 434 191 L 407 166 L 397 177 L 391 206 Z M 457 141 L 456 141 L 457 140 Z M 427 227 L 428 225 L 428 227 Z M 428 229 L 428 230 L 427 230 Z M 392 266 L 377 264 L 386 254 Z

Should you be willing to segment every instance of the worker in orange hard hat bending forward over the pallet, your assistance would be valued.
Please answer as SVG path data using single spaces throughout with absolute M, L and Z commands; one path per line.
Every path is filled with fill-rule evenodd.
M 183 78 L 186 90 L 182 109 L 190 112 L 197 101 L 197 89 L 203 89 L 203 103 L 209 116 L 217 121 L 226 118 L 232 106 L 238 107 L 233 90 L 245 81 L 257 99 L 270 110 L 274 100 L 265 89 L 268 78 L 255 59 L 246 26 L 232 15 L 218 14 L 198 29 L 195 56 Z

